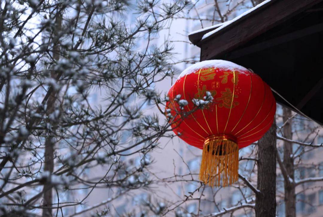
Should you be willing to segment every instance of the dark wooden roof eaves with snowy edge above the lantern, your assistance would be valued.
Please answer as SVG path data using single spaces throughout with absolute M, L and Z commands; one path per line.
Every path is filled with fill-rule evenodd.
M 252 69 L 284 98 L 274 94 L 278 103 L 322 125 L 323 0 L 266 1 L 189 39 L 201 48 L 201 61 L 230 60 Z

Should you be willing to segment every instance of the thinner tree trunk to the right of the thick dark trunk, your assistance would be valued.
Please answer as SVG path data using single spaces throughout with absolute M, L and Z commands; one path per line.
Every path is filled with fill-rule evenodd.
M 288 108 L 283 108 L 283 123 L 285 123 L 288 118 L 292 116 L 292 112 Z M 292 121 L 289 120 L 283 128 L 284 137 L 287 139 L 292 139 Z M 294 158 L 293 158 L 293 144 L 284 141 L 284 161 L 283 165 L 286 168 L 288 176 L 294 180 Z M 285 215 L 286 217 L 296 216 L 296 195 L 295 187 L 289 182 L 289 180 L 284 180 L 285 188 Z

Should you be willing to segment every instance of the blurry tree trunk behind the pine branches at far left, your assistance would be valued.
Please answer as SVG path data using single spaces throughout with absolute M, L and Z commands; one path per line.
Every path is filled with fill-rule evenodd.
M 54 32 L 54 45 L 53 45 L 53 59 L 55 61 L 59 60 L 59 46 L 57 45 L 58 41 L 57 38 L 59 37 L 58 34 L 61 31 L 62 27 L 62 16 L 58 15 L 56 18 L 56 31 Z M 57 73 L 54 71 L 51 72 L 51 78 L 56 79 Z M 47 100 L 47 116 L 52 114 L 55 111 L 55 101 L 57 97 L 57 91 L 54 89 L 51 95 L 48 97 Z M 53 124 L 53 123 L 51 123 Z M 44 171 L 48 171 L 51 174 L 54 170 L 54 135 L 50 133 L 50 135 L 46 138 L 45 141 L 45 161 L 44 161 Z M 49 176 L 49 180 L 50 180 Z M 43 209 L 43 217 L 52 216 L 52 204 L 53 204 L 53 186 L 50 181 L 47 180 L 47 182 L 44 184 L 44 201 L 43 205 L 47 208 Z

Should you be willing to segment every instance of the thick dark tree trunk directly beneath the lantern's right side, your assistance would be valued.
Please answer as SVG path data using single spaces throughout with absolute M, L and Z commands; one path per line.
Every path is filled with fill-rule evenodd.
M 276 216 L 276 120 L 258 141 L 256 217 Z

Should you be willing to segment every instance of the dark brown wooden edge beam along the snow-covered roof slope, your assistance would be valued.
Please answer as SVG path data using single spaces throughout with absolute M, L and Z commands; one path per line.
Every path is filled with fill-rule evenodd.
M 272 0 L 201 40 L 201 61 L 216 59 L 323 0 Z

